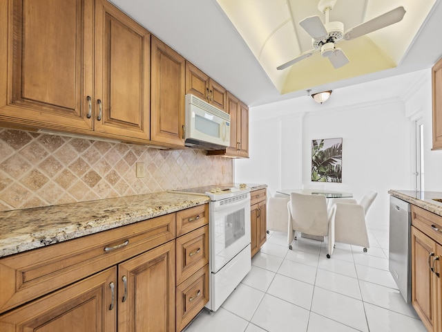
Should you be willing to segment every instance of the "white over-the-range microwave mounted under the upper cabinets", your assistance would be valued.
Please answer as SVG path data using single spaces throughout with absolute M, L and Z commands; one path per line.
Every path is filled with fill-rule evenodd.
M 229 147 L 230 115 L 195 95 L 187 94 L 184 144 L 206 150 Z

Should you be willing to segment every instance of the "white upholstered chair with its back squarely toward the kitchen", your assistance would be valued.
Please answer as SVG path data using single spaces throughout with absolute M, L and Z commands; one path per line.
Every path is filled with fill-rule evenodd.
M 291 249 L 291 243 L 296 239 L 296 232 L 302 232 L 318 237 L 328 237 L 334 231 L 330 229 L 327 212 L 327 201 L 323 195 L 290 194 L 290 201 L 287 204 L 289 210 L 287 241 Z M 332 255 L 334 242 L 329 241 L 329 253 Z

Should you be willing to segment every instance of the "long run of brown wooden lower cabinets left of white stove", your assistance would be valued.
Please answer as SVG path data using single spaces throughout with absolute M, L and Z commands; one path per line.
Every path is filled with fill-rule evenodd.
M 3 257 L 0 331 L 181 331 L 209 300 L 208 223 L 199 205 Z M 179 285 L 177 241 L 189 256 Z

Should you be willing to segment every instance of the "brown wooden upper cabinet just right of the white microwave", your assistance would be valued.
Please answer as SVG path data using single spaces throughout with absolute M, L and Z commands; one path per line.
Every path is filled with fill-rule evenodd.
M 207 154 L 248 158 L 249 107 L 227 91 L 227 113 L 230 114 L 230 147 L 223 150 L 207 151 Z

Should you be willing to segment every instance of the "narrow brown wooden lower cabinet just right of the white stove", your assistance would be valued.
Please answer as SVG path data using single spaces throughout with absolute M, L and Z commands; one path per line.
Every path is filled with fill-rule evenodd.
M 250 194 L 251 257 L 267 241 L 267 190 L 255 190 Z

